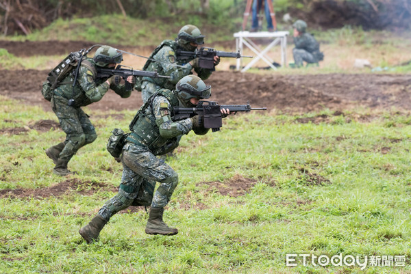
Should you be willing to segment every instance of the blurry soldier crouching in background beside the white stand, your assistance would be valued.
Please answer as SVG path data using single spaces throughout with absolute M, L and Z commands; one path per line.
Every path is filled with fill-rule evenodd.
M 322 61 L 323 53 L 320 52 L 319 42 L 308 32 L 306 32 L 307 24 L 303 20 L 297 20 L 292 27 L 294 28 L 294 44 L 292 49 L 295 66 L 303 66 L 303 61 L 307 64 L 314 64 Z

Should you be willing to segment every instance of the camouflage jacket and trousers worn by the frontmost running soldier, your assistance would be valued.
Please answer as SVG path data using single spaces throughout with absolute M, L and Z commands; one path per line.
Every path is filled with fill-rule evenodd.
M 169 113 L 171 113 L 171 102 L 164 96 L 155 96 L 152 107 L 153 109 L 151 109 L 151 106 L 147 107 L 142 117 L 147 117 L 147 121 L 163 120 L 164 122 L 157 122 L 153 126 L 151 123 L 138 120 L 134 125 L 133 132 L 144 133 L 145 136 L 138 136 L 140 142 L 135 143 L 127 138 L 121 157 L 124 168 L 119 193 L 99 210 L 99 215 L 106 220 L 109 220 L 112 215 L 120 210 L 132 205 L 135 199 L 147 200 L 147 197 L 149 199 L 153 197 L 151 207 L 164 208 L 169 203 L 175 187 L 177 187 L 177 173 L 162 159 L 156 157 L 154 153 L 155 150 L 160 150 L 170 141 L 175 142 L 180 135 L 190 132 L 192 122 L 189 118 L 176 122 L 168 120 Z M 160 128 L 163 132 L 168 132 L 163 133 L 167 137 L 158 138 Z M 158 139 L 162 139 L 162 141 L 158 141 Z M 160 186 L 155 193 L 154 189 L 152 189 L 152 192 L 145 190 L 141 193 L 140 188 L 142 185 L 153 181 L 160 182 Z

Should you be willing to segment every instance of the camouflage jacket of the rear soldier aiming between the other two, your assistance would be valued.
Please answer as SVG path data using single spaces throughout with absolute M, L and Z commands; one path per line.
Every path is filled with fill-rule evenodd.
M 167 42 L 168 43 L 164 43 Z M 175 55 L 175 51 L 179 47 L 178 43 L 172 40 L 166 40 L 162 44 L 163 46 L 160 50 L 152 56 L 153 59 L 156 61 L 147 61 L 149 65 L 145 70 L 154 71 L 157 70 L 158 74 L 169 76 L 169 79 L 164 78 L 149 78 L 144 77 L 142 81 L 150 81 L 155 83 L 155 85 L 159 85 L 162 88 L 166 88 L 168 90 L 174 90 L 175 85 L 177 82 L 182 79 L 183 77 L 191 74 L 192 66 L 188 63 L 190 60 L 181 60 L 177 59 Z M 179 66 L 175 66 L 179 65 Z M 182 66 L 182 67 L 180 67 Z M 211 71 L 205 68 L 194 68 L 197 75 L 205 80 L 208 79 L 211 75 Z

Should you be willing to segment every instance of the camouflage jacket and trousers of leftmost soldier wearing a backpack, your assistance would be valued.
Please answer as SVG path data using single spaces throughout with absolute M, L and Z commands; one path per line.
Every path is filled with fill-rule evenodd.
M 95 64 L 92 59 L 89 60 Z M 109 87 L 122 98 L 130 96 L 131 91 L 127 92 L 124 84 L 115 85 L 113 83 L 109 86 L 108 83 L 105 83 L 106 80 L 107 78 L 98 77 L 94 79 L 88 68 L 80 66 L 74 92 L 72 74 L 63 79 L 63 84 L 53 90 L 51 108 L 57 115 L 62 130 L 66 133 L 66 141 L 64 141 L 66 146 L 60 153 L 59 159 L 70 161 L 79 148 L 92 143 L 97 138 L 95 128 L 88 119 L 88 115 L 80 107 L 101 100 Z M 71 98 L 75 99 L 73 107 L 68 105 Z

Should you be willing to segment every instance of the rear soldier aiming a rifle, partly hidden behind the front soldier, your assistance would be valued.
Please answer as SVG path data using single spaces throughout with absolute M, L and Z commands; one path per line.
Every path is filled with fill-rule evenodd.
M 154 79 L 143 77 L 141 83 L 141 96 L 143 102 L 146 102 L 151 94 L 159 88 L 173 90 L 175 88 L 175 84 L 180 79 L 192 73 L 191 70 L 193 68 L 201 79 L 205 80 L 210 77 L 211 71 L 207 68 L 200 68 L 198 58 L 192 59 L 187 63 L 186 59 L 179 59 L 175 53 L 177 49 L 194 52 L 199 45 L 204 43 L 204 37 L 205 36 L 201 34 L 201 31 L 194 25 L 185 25 L 179 30 L 175 40 L 164 40 L 155 49 L 155 51 L 151 53 L 150 59 L 154 59 L 156 61 L 149 59 L 143 67 L 143 70 L 157 70 L 158 74 L 166 75 L 170 78 Z M 217 65 L 219 62 L 220 57 L 215 56 L 214 64 Z

